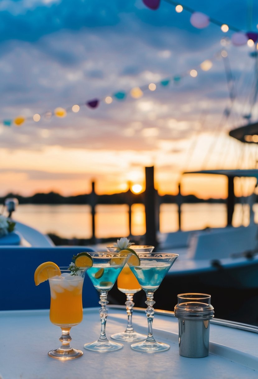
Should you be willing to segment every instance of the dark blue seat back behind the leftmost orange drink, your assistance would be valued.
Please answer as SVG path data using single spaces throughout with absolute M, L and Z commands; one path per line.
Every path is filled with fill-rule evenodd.
M 0 247 L 0 310 L 49 309 L 50 288 L 48 281 L 36 286 L 34 272 L 43 262 L 69 266 L 72 257 L 89 247 Z M 82 290 L 83 307 L 98 306 L 98 291 L 85 275 Z

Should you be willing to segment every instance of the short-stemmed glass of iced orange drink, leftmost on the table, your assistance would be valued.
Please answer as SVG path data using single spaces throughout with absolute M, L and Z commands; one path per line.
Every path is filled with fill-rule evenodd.
M 62 345 L 48 352 L 51 358 L 68 360 L 83 354 L 81 350 L 71 348 L 70 329 L 82 321 L 82 285 L 86 270 L 78 269 L 76 275 L 71 275 L 68 268 L 48 269 L 51 294 L 49 317 L 52 324 L 62 329 L 59 338 Z

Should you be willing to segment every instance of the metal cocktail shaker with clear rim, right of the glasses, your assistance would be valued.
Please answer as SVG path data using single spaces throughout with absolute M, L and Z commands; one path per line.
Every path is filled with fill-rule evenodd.
M 188 358 L 207 357 L 209 353 L 210 319 L 214 308 L 205 293 L 177 295 L 175 316 L 179 324 L 179 354 Z

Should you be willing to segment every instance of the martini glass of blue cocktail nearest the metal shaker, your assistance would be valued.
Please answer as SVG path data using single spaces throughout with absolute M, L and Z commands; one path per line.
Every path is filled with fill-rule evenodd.
M 138 279 L 141 288 L 147 295 L 145 303 L 148 305 L 145 313 L 148 319 L 148 337 L 143 342 L 134 343 L 131 348 L 137 351 L 157 352 L 169 349 L 169 345 L 155 341 L 152 334 L 152 321 L 154 317 L 155 304 L 154 292 L 159 288 L 164 276 L 175 262 L 178 254 L 169 253 L 138 253 L 140 266 L 131 266 L 132 272 Z

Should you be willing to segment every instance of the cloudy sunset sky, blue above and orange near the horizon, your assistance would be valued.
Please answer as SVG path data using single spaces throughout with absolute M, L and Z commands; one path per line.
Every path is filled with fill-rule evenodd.
M 258 3 L 247 3 L 183 5 L 258 32 Z M 176 193 L 184 171 L 254 168 L 256 145 L 228 132 L 248 114 L 257 121 L 256 46 L 232 44 L 234 31 L 212 22 L 195 28 L 190 16 L 162 0 L 155 11 L 141 0 L 2 0 L 0 196 L 88 193 L 92 180 L 98 193 L 125 191 L 129 182 L 144 188 L 145 166 L 152 165 L 160 194 Z M 212 67 L 204 70 L 207 60 Z M 143 88 L 137 99 L 135 87 Z M 96 108 L 85 105 L 94 99 Z M 57 107 L 67 116 L 55 116 Z M 26 118 L 20 126 L 18 116 Z M 226 180 L 186 175 L 182 193 L 225 197 Z

